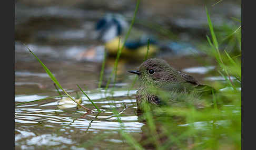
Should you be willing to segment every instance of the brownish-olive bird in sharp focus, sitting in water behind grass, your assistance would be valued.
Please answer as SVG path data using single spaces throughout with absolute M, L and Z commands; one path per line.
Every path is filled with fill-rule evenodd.
M 214 90 L 201 84 L 194 77 L 171 67 L 165 60 L 151 58 L 144 61 L 139 70 L 128 71 L 139 76 L 140 87 L 136 92 L 137 110 L 143 111 L 144 103 L 153 105 L 185 106 L 193 100 L 198 108 L 203 102 L 200 95 Z M 188 94 L 192 93 L 193 94 Z

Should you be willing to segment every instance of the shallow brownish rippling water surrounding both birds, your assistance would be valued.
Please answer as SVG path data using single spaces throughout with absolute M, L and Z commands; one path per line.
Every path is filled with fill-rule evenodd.
M 94 33 L 95 23 L 105 13 L 121 12 L 125 14 L 125 17 L 131 17 L 135 1 L 113 1 L 113 3 L 102 1 L 100 4 L 94 1 L 86 3 L 70 1 L 63 4 L 66 7 L 52 6 L 47 2 L 40 4 L 43 1 L 29 2 L 31 6 L 26 2 L 15 4 L 15 104 L 58 95 L 51 78 L 24 47 L 25 42 L 72 97 L 76 96 L 76 92 L 81 95 L 82 105 L 91 109 L 92 113 L 87 114 L 84 109 L 77 108 L 73 102 L 63 105 L 60 98 L 15 106 L 15 149 L 82 150 L 120 149 L 120 147 L 129 149 L 129 144 L 119 133 L 120 129 L 140 141 L 145 123 L 139 119 L 136 112 L 135 93 L 139 85 L 136 83 L 131 91 L 127 90 L 135 78 L 135 75 L 127 71 L 136 69 L 142 61 L 131 62 L 121 59 L 117 71 L 117 83 L 113 87 L 111 82 L 110 89 L 105 94 L 104 88 L 115 59 L 107 57 L 102 89 L 98 89 L 104 43 L 97 40 Z M 166 2 L 169 4 L 169 1 Z M 163 3 L 157 6 L 152 4 L 156 8 L 149 9 L 151 3 L 154 1 L 142 2 L 140 5 L 139 12 L 141 13 L 138 16 L 142 22 L 143 19 L 150 18 L 152 23 L 160 23 L 163 27 L 169 28 L 171 24 L 172 29 L 178 29 L 178 31 L 181 29 L 180 33 L 176 31 L 175 34 L 184 43 L 205 42 L 200 35 L 207 23 L 206 14 L 203 12 L 204 7 L 199 9 L 198 6 L 193 6 L 191 9 L 186 9 L 181 5 L 174 6 L 176 2 L 173 2 L 174 4 L 171 5 L 175 9 L 159 8 Z M 216 5 L 221 10 L 227 10 L 223 12 L 228 14 L 225 16 L 218 9 L 213 12 L 215 13 L 213 20 L 214 18 L 218 20 L 220 14 L 223 15 L 218 25 L 222 24 L 226 17 L 236 17 L 241 14 L 241 8 L 237 9 L 237 5 L 229 4 L 229 6 L 222 9 L 221 5 Z M 180 12 L 181 8 L 184 11 Z M 166 13 L 167 10 L 171 12 Z M 163 16 L 162 11 L 172 16 L 157 16 L 157 14 Z M 156 16 L 153 17 L 155 20 L 151 19 L 152 15 Z M 195 16 L 198 19 L 194 19 Z M 146 26 L 138 26 L 135 23 L 134 28 L 140 28 L 146 33 L 161 35 Z M 205 32 L 203 33 L 203 38 L 205 38 Z M 166 40 L 166 37 L 163 39 Z M 185 45 L 186 47 L 188 45 Z M 178 45 L 176 49 L 179 48 Z M 194 50 L 194 47 L 192 49 Z M 190 54 L 181 56 L 164 54 L 159 58 L 168 61 L 172 67 L 191 74 L 201 83 L 224 81 L 222 77 L 212 73 L 217 69 L 214 59 Z M 209 62 L 210 65 L 202 66 L 197 58 L 203 62 Z M 97 114 L 97 110 L 80 92 L 76 84 L 80 85 L 99 107 L 101 114 Z M 116 114 L 120 117 L 117 118 Z M 188 126 L 188 124 L 180 125 Z M 202 128 L 204 122 L 196 122 L 194 125 Z

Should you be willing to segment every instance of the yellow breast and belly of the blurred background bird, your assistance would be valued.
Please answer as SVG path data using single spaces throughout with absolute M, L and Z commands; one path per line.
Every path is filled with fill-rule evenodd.
M 116 37 L 110 40 L 109 42 L 106 42 L 105 48 L 110 55 L 116 55 L 118 50 L 118 43 L 119 43 L 119 37 Z M 121 38 L 120 46 L 119 46 L 120 49 L 122 48 L 122 46 L 123 46 L 123 40 Z M 157 50 L 158 50 L 158 47 L 156 45 L 150 44 L 148 57 L 154 55 Z M 147 52 L 147 45 L 141 46 L 136 49 L 129 49 L 124 47 L 124 49 L 122 50 L 122 56 L 129 57 L 129 58 L 143 59 L 146 55 L 146 52 Z

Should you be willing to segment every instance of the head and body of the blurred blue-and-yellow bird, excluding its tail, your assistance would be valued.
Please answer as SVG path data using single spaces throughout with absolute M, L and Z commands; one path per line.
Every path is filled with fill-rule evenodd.
M 149 57 L 160 49 L 159 42 L 155 37 L 134 28 L 124 44 L 124 35 L 128 31 L 128 27 L 126 19 L 120 14 L 106 14 L 96 23 L 97 39 L 104 42 L 109 56 L 116 56 L 119 47 L 121 49 L 124 45 L 122 56 L 140 60 L 147 53 L 147 39 L 150 39 Z

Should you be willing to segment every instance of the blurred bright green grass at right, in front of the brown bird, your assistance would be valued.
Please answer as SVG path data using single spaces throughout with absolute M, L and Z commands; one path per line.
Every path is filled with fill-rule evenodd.
M 241 55 L 232 56 L 232 53 L 220 49 L 206 7 L 205 12 L 210 30 L 210 37 L 206 35 L 210 45 L 207 53 L 216 60 L 218 72 L 225 79 L 225 82 L 213 83 L 212 86 L 222 84 L 222 87 L 232 89 L 218 91 L 211 97 L 200 97 L 204 109 L 196 109 L 191 104 L 153 108 L 146 105 L 145 108 L 150 109 L 145 109 L 140 116 L 146 125 L 142 131 L 144 139 L 139 143 L 145 149 L 241 149 L 241 90 L 238 90 L 241 88 Z M 240 29 L 241 26 L 228 35 L 236 36 L 238 45 L 241 45 Z M 191 98 L 191 95 L 187 96 Z M 187 96 L 181 95 L 183 98 Z

